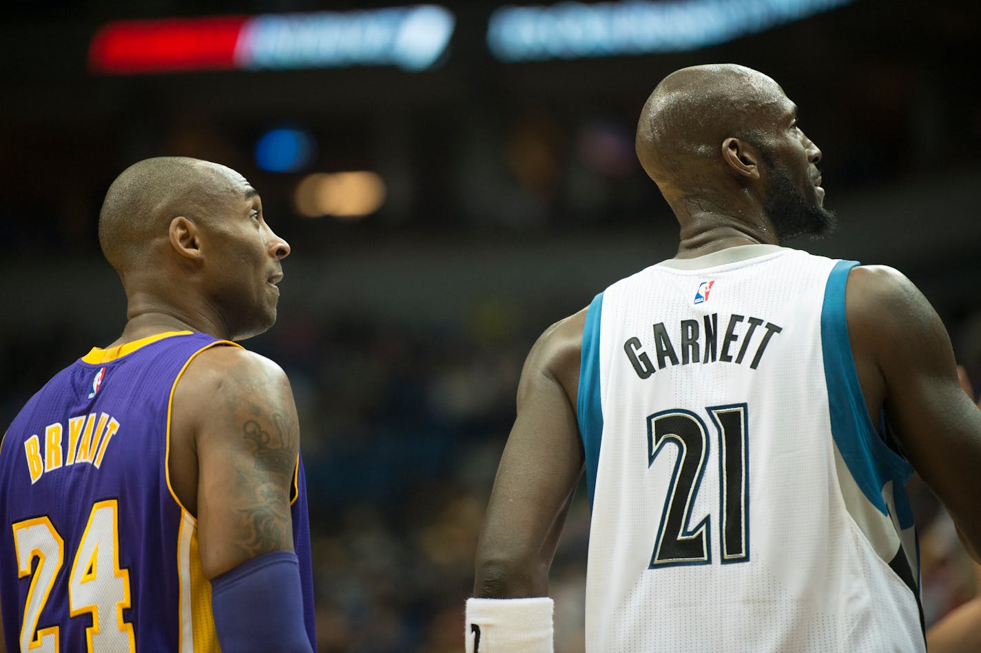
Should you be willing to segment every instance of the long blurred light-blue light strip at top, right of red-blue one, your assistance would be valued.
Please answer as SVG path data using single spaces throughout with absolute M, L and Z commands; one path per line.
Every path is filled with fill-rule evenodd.
M 487 42 L 503 62 L 682 52 L 716 45 L 854 0 L 562 2 L 501 7 Z

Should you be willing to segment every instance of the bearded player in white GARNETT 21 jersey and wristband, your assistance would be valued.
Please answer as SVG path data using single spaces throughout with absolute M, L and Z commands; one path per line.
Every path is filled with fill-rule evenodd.
M 468 651 L 551 651 L 548 567 L 584 468 L 587 651 L 924 650 L 913 468 L 981 551 L 981 412 L 944 326 L 894 270 L 779 245 L 834 216 L 770 77 L 668 75 L 637 151 L 678 254 L 532 349 Z

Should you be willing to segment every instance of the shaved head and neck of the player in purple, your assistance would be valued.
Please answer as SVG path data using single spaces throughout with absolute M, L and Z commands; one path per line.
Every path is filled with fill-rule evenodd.
M 244 339 L 276 322 L 289 244 L 231 168 L 184 157 L 129 166 L 102 203 L 99 244 L 123 281 L 125 335 L 166 327 Z

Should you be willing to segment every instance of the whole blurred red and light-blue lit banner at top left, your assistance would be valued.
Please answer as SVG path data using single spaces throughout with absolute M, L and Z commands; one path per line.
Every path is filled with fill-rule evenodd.
M 352 12 L 115 21 L 88 50 L 97 75 L 397 66 L 423 71 L 455 19 L 437 5 Z

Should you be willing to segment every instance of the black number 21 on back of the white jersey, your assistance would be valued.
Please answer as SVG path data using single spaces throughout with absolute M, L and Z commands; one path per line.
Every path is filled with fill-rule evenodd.
M 713 426 L 711 434 L 702 416 L 689 410 L 672 409 L 647 417 L 647 467 L 666 444 L 678 450 L 648 569 L 712 562 L 711 516 L 706 515 L 695 527 L 688 526 L 709 462 L 711 435 L 719 443 L 722 563 L 749 561 L 749 407 L 709 406 L 705 413 Z

